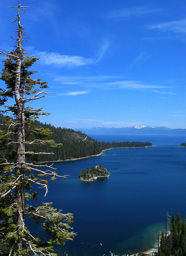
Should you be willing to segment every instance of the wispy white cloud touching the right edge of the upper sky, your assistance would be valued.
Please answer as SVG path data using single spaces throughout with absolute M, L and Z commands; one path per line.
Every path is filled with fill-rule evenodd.
M 186 33 L 186 19 L 159 23 L 149 26 L 149 29 L 158 29 L 163 32 Z

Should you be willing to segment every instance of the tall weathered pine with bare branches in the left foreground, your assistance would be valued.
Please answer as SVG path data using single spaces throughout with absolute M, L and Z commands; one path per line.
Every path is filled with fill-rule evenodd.
M 45 139 L 51 133 L 49 129 L 35 128 L 33 125 L 40 115 L 48 113 L 42 108 L 32 109 L 26 106 L 29 102 L 44 97 L 48 87 L 46 82 L 31 78 L 36 71 L 30 71 L 30 67 L 37 58 L 27 56 L 23 47 L 24 28 L 20 24 L 19 15 L 21 10 L 26 11 L 26 7 L 28 6 L 21 6 L 20 3 L 17 7 L 17 18 L 14 20 L 18 24 L 16 46 L 10 53 L 0 51 L 0 54 L 7 56 L 1 75 L 6 89 L 0 89 L 0 105 L 5 105 L 9 98 L 15 100 L 14 105 L 7 105 L 1 111 L 7 118 L 0 131 L 0 245 L 4 246 L 0 249 L 0 254 L 56 255 L 53 253 L 52 243 L 62 245 L 74 237 L 74 232 L 69 231 L 73 215 L 62 214 L 52 207 L 52 203 L 44 203 L 37 208 L 26 203 L 27 200 L 36 200 L 38 197 L 37 192 L 30 192 L 32 183 L 44 187 L 47 193 L 47 180 L 44 177 L 49 175 L 51 180 L 59 177 L 52 166 L 46 166 L 48 170 L 45 171 L 40 168 L 42 165 L 38 166 L 33 162 L 39 154 L 52 153 L 30 151 L 26 145 L 60 146 L 54 140 Z M 28 156 L 32 163 L 28 163 Z M 38 177 L 31 173 L 33 170 L 39 173 Z M 48 241 L 32 236 L 25 225 L 26 217 L 43 227 Z

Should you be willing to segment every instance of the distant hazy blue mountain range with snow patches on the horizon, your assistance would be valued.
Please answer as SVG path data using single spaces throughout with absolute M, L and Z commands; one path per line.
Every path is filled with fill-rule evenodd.
M 114 127 L 92 127 L 72 128 L 75 131 L 82 131 L 86 134 L 186 134 L 186 129 L 170 129 L 164 126 L 131 126 L 123 128 Z

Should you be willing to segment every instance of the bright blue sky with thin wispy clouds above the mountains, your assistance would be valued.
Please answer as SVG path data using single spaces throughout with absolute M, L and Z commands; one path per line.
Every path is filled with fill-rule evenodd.
M 21 12 L 26 51 L 53 94 L 41 122 L 91 128 L 186 128 L 186 3 L 40 0 Z M 15 0 L 1 1 L 0 49 L 14 46 Z M 4 56 L 0 56 L 0 60 Z M 3 63 L 0 61 L 0 69 Z M 0 87 L 4 88 L 0 81 Z

